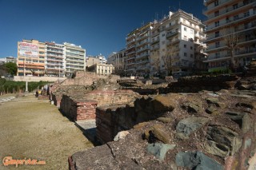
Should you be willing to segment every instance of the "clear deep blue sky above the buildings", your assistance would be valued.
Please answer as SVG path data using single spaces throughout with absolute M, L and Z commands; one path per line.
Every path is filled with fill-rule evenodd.
M 17 57 L 17 42 L 70 42 L 86 55 L 125 48 L 126 34 L 179 7 L 202 15 L 203 0 L 0 0 L 0 57 Z

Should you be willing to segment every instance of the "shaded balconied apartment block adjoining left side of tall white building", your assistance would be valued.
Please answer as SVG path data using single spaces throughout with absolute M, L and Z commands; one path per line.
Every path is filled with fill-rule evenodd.
M 126 36 L 126 75 L 146 75 L 150 73 L 150 22 Z

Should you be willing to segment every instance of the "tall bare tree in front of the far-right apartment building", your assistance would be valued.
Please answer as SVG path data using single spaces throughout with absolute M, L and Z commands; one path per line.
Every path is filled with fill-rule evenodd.
M 226 29 L 226 37 L 224 38 L 226 49 L 230 53 L 230 69 L 234 71 L 234 49 L 238 48 L 238 34 L 235 34 L 234 27 Z

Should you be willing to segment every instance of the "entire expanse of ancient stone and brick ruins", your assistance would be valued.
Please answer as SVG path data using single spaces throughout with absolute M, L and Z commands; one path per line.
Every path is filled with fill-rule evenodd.
M 70 169 L 255 169 L 255 77 L 78 79 L 52 97 L 70 120 L 96 120 L 98 146 L 70 156 Z

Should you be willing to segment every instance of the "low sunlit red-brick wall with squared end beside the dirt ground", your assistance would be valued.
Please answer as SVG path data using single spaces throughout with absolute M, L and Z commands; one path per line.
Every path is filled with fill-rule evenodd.
M 71 120 L 88 120 L 94 119 L 96 106 L 102 105 L 122 105 L 134 101 L 137 93 L 131 90 L 94 90 L 85 94 L 74 91 L 70 94 L 62 95 L 61 97 L 54 96 L 56 103 L 60 101 L 60 109 L 63 115 Z

